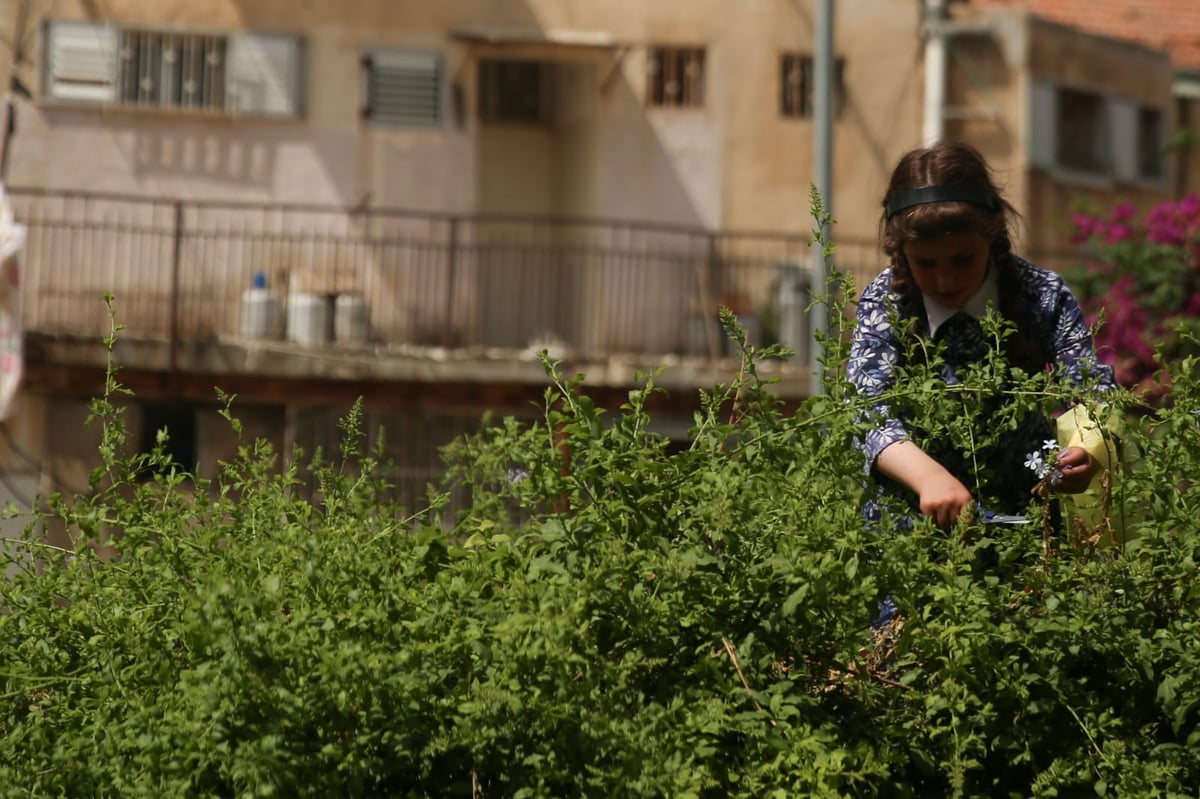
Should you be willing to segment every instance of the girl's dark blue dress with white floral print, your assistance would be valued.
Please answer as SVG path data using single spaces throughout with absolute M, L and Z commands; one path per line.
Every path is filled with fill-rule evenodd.
M 997 269 L 994 266 L 994 269 Z M 1016 257 L 998 268 L 998 307 L 1002 317 L 1013 322 L 1018 334 L 1014 352 L 1008 353 L 1026 371 L 1063 367 L 1063 377 L 1069 384 L 1096 384 L 1098 389 L 1111 389 L 1112 368 L 1096 358 L 1092 335 L 1084 320 L 1082 311 L 1062 277 L 1034 266 Z M 988 482 L 988 500 L 996 503 L 992 510 L 1006 513 L 1024 512 L 1030 501 L 1030 489 L 1037 482 L 1026 461 L 1031 451 L 1040 450 L 1043 443 L 1054 438 L 1049 419 L 1031 414 L 1002 440 L 988 451 L 966 457 L 962 452 L 943 449 L 940 441 L 923 440 L 922 431 L 914 429 L 910 409 L 894 408 L 882 398 L 895 385 L 898 370 L 906 362 L 906 352 L 912 352 L 901 341 L 895 322 L 901 305 L 899 293 L 893 288 L 894 269 L 886 268 L 863 290 L 858 302 L 854 334 L 851 341 L 847 378 L 859 396 L 880 398 L 874 403 L 877 423 L 859 441 L 870 473 L 880 452 L 901 440 L 916 440 L 926 453 L 937 459 L 965 486 L 977 485 L 980 473 Z M 914 320 L 913 335 L 925 341 L 943 342 L 944 367 L 942 378 L 950 384 L 965 366 L 986 355 L 988 344 L 976 334 L 962 335 L 955 322 L 965 314 L 955 314 L 949 323 L 938 326 L 930 336 L 930 325 L 923 310 Z M 979 344 L 983 344 L 982 347 Z M 1086 378 L 1086 379 L 1085 379 Z M 989 423 L 991 410 L 1002 400 L 994 398 L 982 407 L 980 417 L 974 423 Z M 899 491 L 888 480 L 886 487 Z M 984 498 L 977 497 L 983 500 Z

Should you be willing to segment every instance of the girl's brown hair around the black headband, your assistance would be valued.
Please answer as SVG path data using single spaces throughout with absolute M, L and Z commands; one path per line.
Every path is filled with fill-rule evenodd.
M 988 198 L 984 204 L 966 202 L 934 202 L 912 205 L 888 216 L 888 203 L 902 192 L 925 186 L 954 186 Z M 883 196 L 883 217 L 880 221 L 880 247 L 893 264 L 893 289 L 901 298 L 901 311 L 908 316 L 920 307 L 912 272 L 904 257 L 904 244 L 947 233 L 978 233 L 991 240 L 989 257 L 1000 274 L 1013 254 L 1012 220 L 1016 210 L 1004 199 L 991 168 L 970 144 L 938 142 L 928 148 L 910 150 L 892 172 L 888 191 Z

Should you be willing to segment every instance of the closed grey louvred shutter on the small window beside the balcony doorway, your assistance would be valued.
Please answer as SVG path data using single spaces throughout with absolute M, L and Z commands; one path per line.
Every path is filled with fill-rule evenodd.
M 366 56 L 366 115 L 379 125 L 433 127 L 442 124 L 442 56 L 437 53 L 376 52 Z

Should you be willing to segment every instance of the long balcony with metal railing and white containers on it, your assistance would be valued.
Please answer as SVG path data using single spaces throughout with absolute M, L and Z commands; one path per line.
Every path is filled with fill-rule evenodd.
M 251 205 L 11 190 L 29 228 L 31 364 L 102 366 L 103 295 L 126 367 L 167 377 L 539 383 L 546 348 L 589 382 L 730 374 L 716 311 L 806 391 L 806 236 L 620 221 Z M 840 241 L 863 278 L 874 242 Z M 263 288 L 251 293 L 256 281 Z

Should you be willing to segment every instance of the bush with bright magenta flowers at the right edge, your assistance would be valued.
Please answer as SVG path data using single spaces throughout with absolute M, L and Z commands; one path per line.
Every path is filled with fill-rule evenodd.
M 1181 328 L 1200 331 L 1200 196 L 1162 203 L 1138 221 L 1122 203 L 1108 217 L 1072 216 L 1073 242 L 1090 263 L 1068 277 L 1096 335 L 1100 359 L 1120 383 L 1159 396 L 1156 350 L 1165 360 L 1190 352 Z

